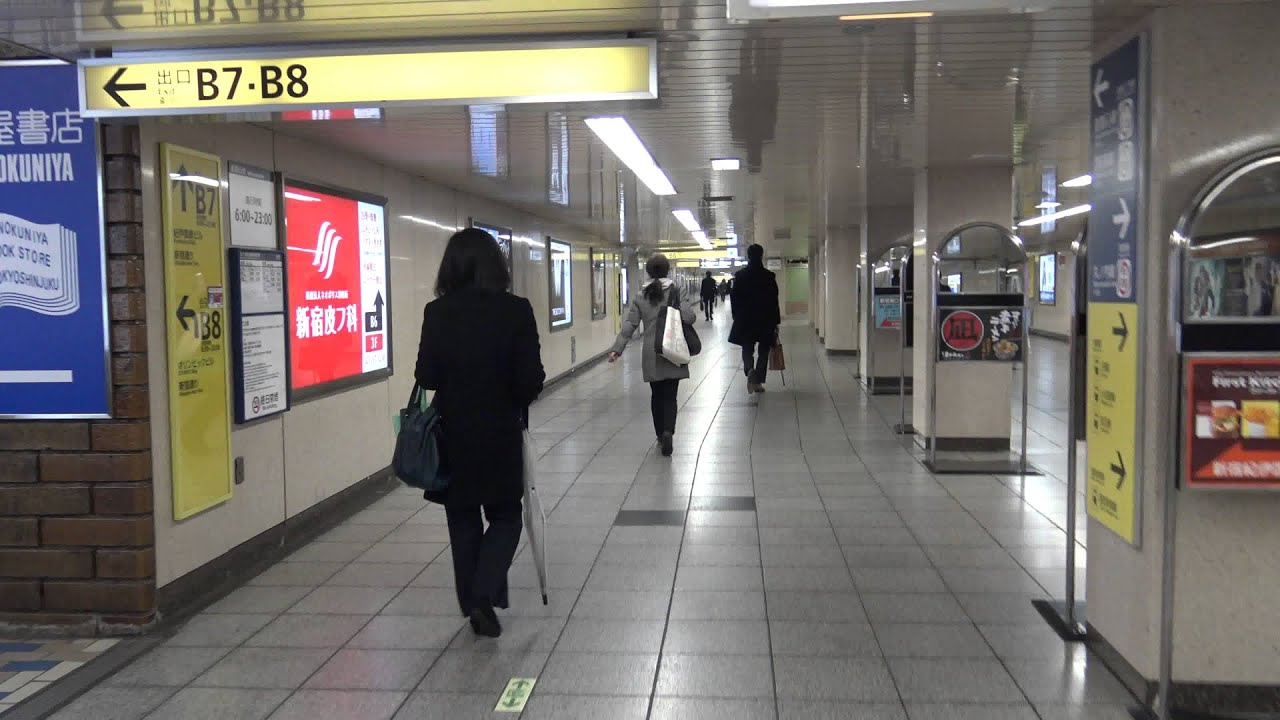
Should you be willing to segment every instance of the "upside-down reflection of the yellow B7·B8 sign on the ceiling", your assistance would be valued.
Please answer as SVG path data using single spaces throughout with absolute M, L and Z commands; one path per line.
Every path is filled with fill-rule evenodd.
M 288 32 L 448 33 L 513 23 L 627 23 L 653 13 L 634 0 L 78 0 L 81 41 L 200 38 Z M 495 23 L 494 20 L 499 20 Z M 467 33 L 467 35 L 475 35 Z

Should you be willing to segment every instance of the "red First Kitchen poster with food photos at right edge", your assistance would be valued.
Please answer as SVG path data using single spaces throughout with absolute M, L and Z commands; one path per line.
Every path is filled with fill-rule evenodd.
M 1187 360 L 1188 487 L 1280 488 L 1280 357 Z

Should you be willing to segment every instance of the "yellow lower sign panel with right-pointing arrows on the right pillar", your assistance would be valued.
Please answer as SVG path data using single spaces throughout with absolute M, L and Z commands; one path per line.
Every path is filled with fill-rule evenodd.
M 1089 516 L 1133 544 L 1138 533 L 1138 306 L 1089 302 Z

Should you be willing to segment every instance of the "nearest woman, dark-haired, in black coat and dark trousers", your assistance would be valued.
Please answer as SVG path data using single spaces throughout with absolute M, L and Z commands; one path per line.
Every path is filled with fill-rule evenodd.
M 494 607 L 507 607 L 507 570 L 520 544 L 524 429 L 543 391 L 534 309 L 507 292 L 507 260 L 489 233 L 449 238 L 422 313 L 413 377 L 440 413 L 449 487 L 444 505 L 458 605 L 481 635 L 498 637 Z M 480 518 L 489 521 L 485 529 Z

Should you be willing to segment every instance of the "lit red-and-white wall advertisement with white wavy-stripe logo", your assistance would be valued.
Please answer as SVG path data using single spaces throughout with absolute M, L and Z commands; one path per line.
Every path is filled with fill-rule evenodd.
M 285 181 L 294 391 L 390 374 L 387 201 Z

